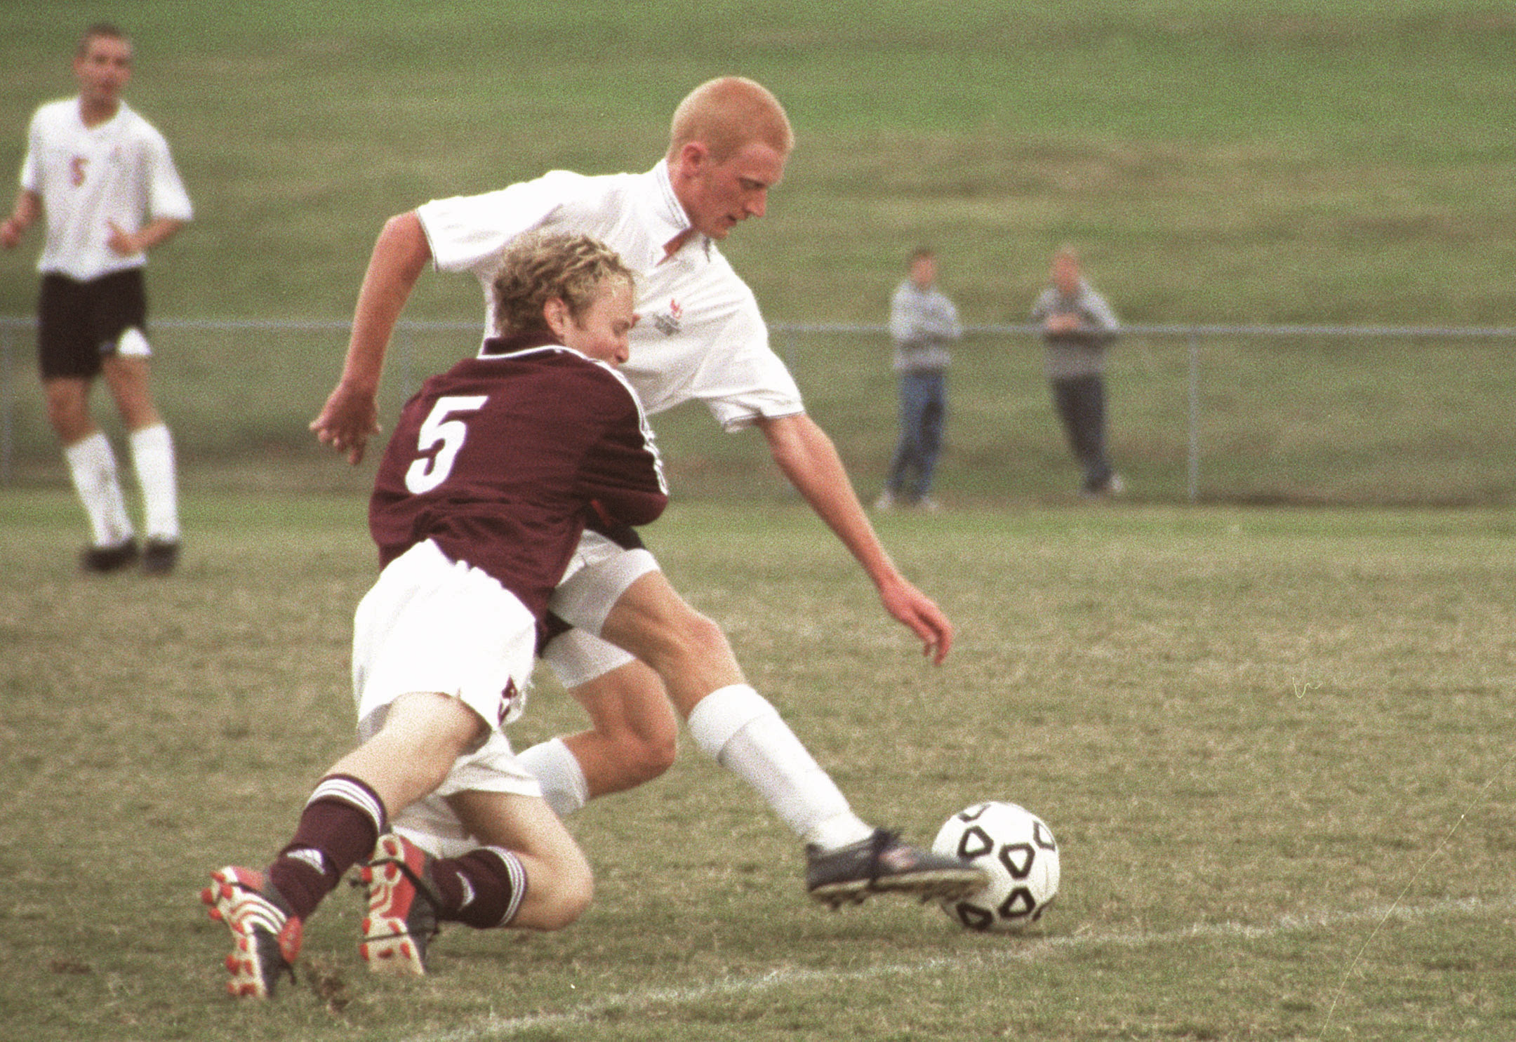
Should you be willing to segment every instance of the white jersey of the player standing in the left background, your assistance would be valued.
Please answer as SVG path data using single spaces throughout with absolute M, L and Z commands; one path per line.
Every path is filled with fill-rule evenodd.
M 21 188 L 42 197 L 47 242 L 36 270 L 86 282 L 147 264 L 106 241 L 114 221 L 136 232 L 161 217 L 194 217 L 168 142 L 123 101 L 114 117 L 86 127 L 79 98 L 50 101 L 32 117 Z

